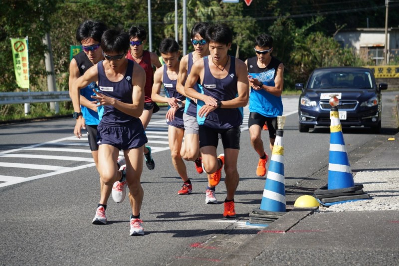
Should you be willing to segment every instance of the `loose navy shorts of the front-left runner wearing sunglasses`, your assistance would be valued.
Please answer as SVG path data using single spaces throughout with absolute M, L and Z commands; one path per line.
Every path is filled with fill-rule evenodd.
M 119 150 L 130 150 L 139 148 L 148 142 L 140 119 L 112 125 L 100 121 L 97 129 L 98 145 L 108 144 Z

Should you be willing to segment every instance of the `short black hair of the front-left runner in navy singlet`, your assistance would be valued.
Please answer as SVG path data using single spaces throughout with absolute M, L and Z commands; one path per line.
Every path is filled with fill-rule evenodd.
M 110 28 L 101 37 L 101 48 L 105 53 L 117 52 L 121 54 L 130 49 L 129 35 L 121 26 Z

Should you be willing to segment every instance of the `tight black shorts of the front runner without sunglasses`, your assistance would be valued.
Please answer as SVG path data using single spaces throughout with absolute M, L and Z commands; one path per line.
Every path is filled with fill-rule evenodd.
M 228 129 L 215 129 L 204 125 L 200 125 L 200 148 L 205 146 L 214 146 L 217 148 L 219 134 L 223 149 L 240 149 L 240 126 Z

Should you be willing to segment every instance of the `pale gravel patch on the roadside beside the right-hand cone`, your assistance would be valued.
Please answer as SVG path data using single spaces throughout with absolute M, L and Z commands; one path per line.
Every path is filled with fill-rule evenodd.
M 320 206 L 316 212 L 399 210 L 399 170 L 358 172 L 353 179 L 371 199 Z

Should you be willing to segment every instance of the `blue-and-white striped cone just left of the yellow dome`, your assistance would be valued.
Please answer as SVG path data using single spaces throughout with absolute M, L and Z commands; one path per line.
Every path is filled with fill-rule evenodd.
M 283 130 L 277 129 L 276 140 L 267 171 L 260 210 L 285 212 Z

